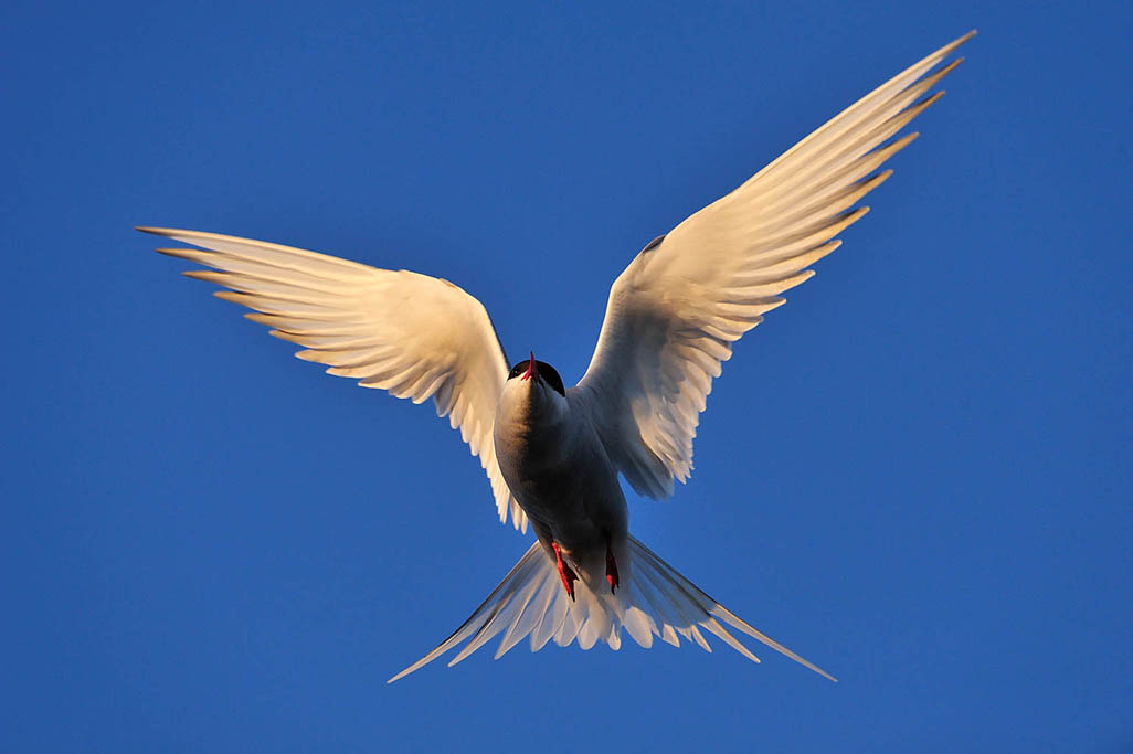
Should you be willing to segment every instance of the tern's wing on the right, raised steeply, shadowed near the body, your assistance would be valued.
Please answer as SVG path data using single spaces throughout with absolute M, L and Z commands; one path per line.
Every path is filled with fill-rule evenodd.
M 654 498 L 692 471 L 700 412 L 732 343 L 838 247 L 852 208 L 917 134 L 893 137 L 944 92 L 940 63 L 971 32 L 883 84 L 727 196 L 647 246 L 614 281 L 594 358 L 576 388 L 611 457 Z

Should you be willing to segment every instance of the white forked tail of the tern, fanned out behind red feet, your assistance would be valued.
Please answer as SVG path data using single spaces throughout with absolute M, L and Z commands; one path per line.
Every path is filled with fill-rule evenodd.
M 647 649 L 653 646 L 654 636 L 673 646 L 680 646 L 680 636 L 684 636 L 710 652 L 712 648 L 701 633 L 701 629 L 707 631 L 743 657 L 759 662 L 759 658 L 741 644 L 729 627 L 830 680 L 837 680 L 736 617 L 632 537 L 629 538 L 628 552 L 630 562 L 625 565 L 629 567 L 624 567 L 619 559 L 622 574 L 616 596 L 604 589 L 591 590 L 580 581 L 577 601 L 571 601 L 560 582 L 554 562 L 536 541 L 452 636 L 386 683 L 408 676 L 469 640 L 449 662 L 452 667 L 500 633 L 503 633 L 503 639 L 500 640 L 496 659 L 526 636 L 531 637 L 533 652 L 543 649 L 550 640 L 560 646 L 578 640 L 582 649 L 590 649 L 597 641 L 603 641 L 616 650 L 622 644 L 624 628 Z

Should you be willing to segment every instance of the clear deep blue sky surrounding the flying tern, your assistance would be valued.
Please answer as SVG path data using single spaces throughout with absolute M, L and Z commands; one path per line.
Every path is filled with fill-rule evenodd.
M 1131 751 L 1130 3 L 406 5 L 2 5 L 0 749 Z M 130 228 L 444 275 L 573 383 L 644 243 L 971 27 L 691 482 L 631 499 L 842 683 L 662 645 L 386 686 L 529 540 L 427 406 Z

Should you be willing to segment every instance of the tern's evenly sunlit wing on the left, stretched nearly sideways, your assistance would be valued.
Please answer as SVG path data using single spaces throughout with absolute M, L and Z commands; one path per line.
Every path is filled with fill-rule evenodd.
M 304 346 L 305 361 L 414 403 L 432 397 L 438 417 L 479 456 L 500 521 L 527 515 L 496 463 L 492 426 L 508 360 L 484 306 L 445 280 L 216 233 L 138 228 L 202 249 L 159 249 L 212 269 L 185 273 L 230 290 L 215 295 L 254 314 L 271 334 Z

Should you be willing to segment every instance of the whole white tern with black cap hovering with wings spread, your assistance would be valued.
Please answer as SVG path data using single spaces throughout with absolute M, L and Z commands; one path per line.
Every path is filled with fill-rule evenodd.
M 714 634 L 748 659 L 746 634 L 834 680 L 739 618 L 629 533 L 620 478 L 663 499 L 692 471 L 699 414 L 732 344 L 808 280 L 889 178 L 898 132 L 944 92 L 932 87 L 974 32 L 902 71 L 748 179 L 646 246 L 610 290 L 590 365 L 573 387 L 535 358 L 510 363 L 484 306 L 445 280 L 378 269 L 248 239 L 138 228 L 197 248 L 159 249 L 206 269 L 215 295 L 303 346 L 296 355 L 421 403 L 433 399 L 487 474 L 500 521 L 536 541 L 448 640 L 390 683 L 463 643 L 454 665 L 503 634 L 641 646 Z M 467 642 L 467 643 L 466 643 Z

